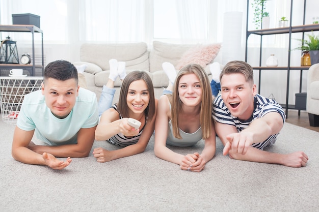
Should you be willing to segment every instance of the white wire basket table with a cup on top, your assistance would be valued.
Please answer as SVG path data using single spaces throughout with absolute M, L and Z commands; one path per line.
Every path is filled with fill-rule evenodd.
M 43 77 L 0 77 L 2 120 L 16 124 L 24 95 L 39 90 Z

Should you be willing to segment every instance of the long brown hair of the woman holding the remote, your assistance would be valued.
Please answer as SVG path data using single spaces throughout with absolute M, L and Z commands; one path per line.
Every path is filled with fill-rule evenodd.
M 128 109 L 126 103 L 126 97 L 128 93 L 129 85 L 137 80 L 144 80 L 146 83 L 148 94 L 149 94 L 149 103 L 146 107 L 144 114 L 148 119 L 152 119 L 155 115 L 155 96 L 154 96 L 154 87 L 150 76 L 145 71 L 132 71 L 126 75 L 123 80 L 121 90 L 120 90 L 120 99 L 118 102 L 118 110 L 120 111 L 122 117 L 128 117 Z

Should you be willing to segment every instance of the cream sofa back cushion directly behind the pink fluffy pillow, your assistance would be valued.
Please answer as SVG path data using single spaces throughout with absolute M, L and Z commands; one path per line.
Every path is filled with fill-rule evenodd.
M 176 66 L 181 55 L 191 47 L 194 47 L 194 45 L 153 41 L 153 48 L 149 54 L 150 72 L 153 73 L 158 70 L 163 70 L 162 64 L 164 62 L 169 62 L 173 64 L 173 66 Z

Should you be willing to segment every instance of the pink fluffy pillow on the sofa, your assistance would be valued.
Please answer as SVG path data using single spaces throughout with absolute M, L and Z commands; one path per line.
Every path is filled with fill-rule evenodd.
M 182 54 L 182 56 L 178 60 L 176 69 L 180 70 L 182 67 L 189 64 L 198 64 L 201 67 L 205 68 L 207 64 L 210 64 L 215 59 L 221 46 L 222 45 L 220 43 L 217 43 L 209 45 L 198 45 L 194 48 L 190 48 Z

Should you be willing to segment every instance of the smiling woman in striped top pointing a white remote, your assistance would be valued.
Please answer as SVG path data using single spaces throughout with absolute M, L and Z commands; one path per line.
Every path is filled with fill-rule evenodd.
M 111 63 L 110 60 L 110 65 Z M 102 113 L 95 131 L 95 139 L 107 140 L 123 148 L 116 150 L 95 148 L 93 156 L 97 162 L 108 162 L 144 152 L 154 132 L 157 99 L 154 98 L 153 84 L 149 75 L 144 71 L 132 71 L 121 77 L 123 70 L 110 68 L 111 83 L 103 87 L 99 108 L 105 108 L 105 105 L 109 105 L 107 102 L 112 103 L 115 92 L 112 84 L 114 85 L 118 76 L 117 72 L 123 79 L 119 102 Z M 111 93 L 111 96 L 108 93 Z M 139 120 L 141 126 L 138 129 L 131 127 L 128 125 L 128 118 Z

